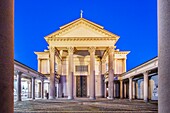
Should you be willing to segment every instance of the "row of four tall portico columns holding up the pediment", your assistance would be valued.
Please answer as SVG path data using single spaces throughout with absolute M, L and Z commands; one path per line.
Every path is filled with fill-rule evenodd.
M 75 47 L 67 47 L 68 51 L 68 99 L 74 99 L 73 91 L 73 79 L 74 79 L 74 50 Z M 90 76 L 89 76 L 89 94 L 90 99 L 96 99 L 95 94 L 95 51 L 96 47 L 89 47 L 88 52 L 90 54 Z M 108 53 L 109 62 L 109 99 L 113 99 L 113 84 L 114 84 L 114 46 L 108 47 L 106 50 Z M 50 99 L 55 98 L 55 55 L 57 53 L 57 47 L 50 47 Z M 57 56 L 59 57 L 59 56 Z M 61 60 L 61 59 L 59 59 Z M 102 59 L 103 61 L 103 59 Z

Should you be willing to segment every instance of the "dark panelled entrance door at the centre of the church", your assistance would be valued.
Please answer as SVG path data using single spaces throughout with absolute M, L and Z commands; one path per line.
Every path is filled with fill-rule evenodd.
M 86 76 L 76 77 L 76 96 L 87 97 L 87 77 Z

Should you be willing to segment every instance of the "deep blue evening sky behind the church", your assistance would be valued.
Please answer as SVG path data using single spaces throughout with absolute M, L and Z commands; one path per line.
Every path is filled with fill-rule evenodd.
M 129 50 L 127 70 L 157 56 L 156 0 L 15 0 L 14 59 L 37 70 L 34 51 L 44 37 L 80 17 L 120 36 L 116 46 Z

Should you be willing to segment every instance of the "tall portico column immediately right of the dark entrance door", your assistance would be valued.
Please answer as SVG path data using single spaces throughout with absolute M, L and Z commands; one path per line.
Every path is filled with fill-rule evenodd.
M 96 99 L 95 96 L 95 47 L 89 48 L 90 53 L 90 79 L 89 79 L 89 90 L 90 90 L 90 99 Z

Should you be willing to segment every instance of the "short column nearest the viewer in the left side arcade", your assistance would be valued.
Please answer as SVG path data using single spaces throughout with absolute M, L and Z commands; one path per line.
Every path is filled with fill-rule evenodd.
M 21 101 L 21 75 L 22 72 L 17 72 L 17 101 Z

